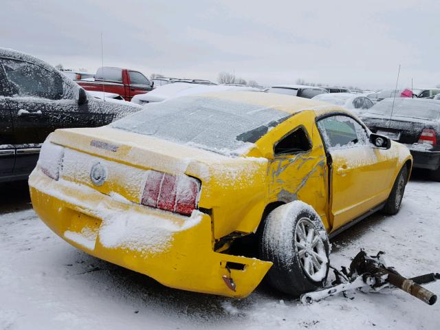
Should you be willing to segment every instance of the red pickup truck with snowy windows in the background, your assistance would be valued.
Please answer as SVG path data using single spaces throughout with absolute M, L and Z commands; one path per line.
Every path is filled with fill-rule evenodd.
M 76 83 L 86 91 L 119 94 L 126 101 L 130 101 L 137 94 L 145 94 L 153 89 L 153 83 L 142 73 L 119 67 L 100 67 L 94 80 L 77 80 Z

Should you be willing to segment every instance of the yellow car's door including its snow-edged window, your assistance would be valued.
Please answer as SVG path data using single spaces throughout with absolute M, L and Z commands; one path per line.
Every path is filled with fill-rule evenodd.
M 375 148 L 364 127 L 348 115 L 327 116 L 318 129 L 331 162 L 333 231 L 388 197 L 397 157 Z

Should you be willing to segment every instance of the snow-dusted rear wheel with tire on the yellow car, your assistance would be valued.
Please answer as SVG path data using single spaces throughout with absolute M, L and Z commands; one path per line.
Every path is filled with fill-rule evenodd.
M 301 232 L 311 232 L 314 241 L 319 243 L 312 247 L 308 241 L 299 240 L 298 235 Z M 298 248 L 303 245 L 301 242 L 307 244 L 308 250 Z M 320 259 L 317 259 L 316 254 Z M 329 239 L 318 213 L 301 201 L 275 208 L 265 219 L 259 241 L 259 256 L 262 260 L 274 263 L 267 272 L 266 280 L 280 292 L 299 297 L 305 292 L 322 287 L 329 273 Z M 305 258 L 309 259 L 309 256 L 314 261 L 309 260 L 307 263 Z M 310 276 L 309 273 L 315 271 L 316 262 L 320 263 L 320 267 L 316 267 L 318 271 Z M 306 263 L 309 267 L 312 263 L 309 272 L 305 271 Z

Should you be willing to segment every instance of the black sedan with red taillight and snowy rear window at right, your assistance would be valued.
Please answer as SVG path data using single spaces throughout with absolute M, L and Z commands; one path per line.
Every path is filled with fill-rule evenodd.
M 394 103 L 394 105 L 393 105 Z M 417 98 L 386 98 L 362 115 L 373 133 L 406 144 L 413 167 L 430 170 L 440 181 L 440 102 Z

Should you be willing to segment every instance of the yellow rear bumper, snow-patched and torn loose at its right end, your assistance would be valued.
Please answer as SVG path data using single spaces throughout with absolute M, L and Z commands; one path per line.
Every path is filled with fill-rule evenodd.
M 263 279 L 272 263 L 212 250 L 208 214 L 191 217 L 112 199 L 93 188 L 55 181 L 34 170 L 32 205 L 58 236 L 93 256 L 155 278 L 168 287 L 242 298 Z M 230 270 L 226 263 L 244 265 Z M 232 291 L 223 280 L 230 276 Z

